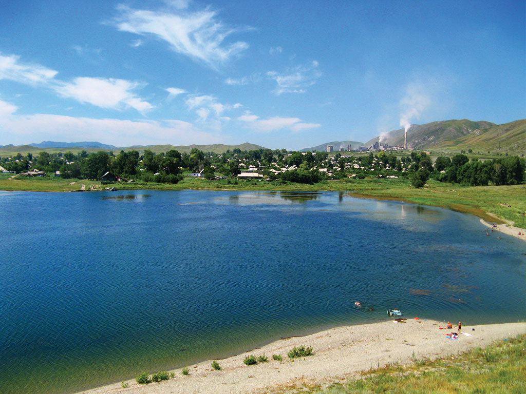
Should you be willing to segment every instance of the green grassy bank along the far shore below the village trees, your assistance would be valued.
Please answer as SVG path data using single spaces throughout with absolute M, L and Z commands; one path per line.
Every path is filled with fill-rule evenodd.
M 100 182 L 88 180 L 63 180 L 60 178 L 8 179 L 7 174 L 2 174 L 0 177 L 0 190 L 8 191 L 78 191 L 83 184 L 85 185 L 85 190 L 89 190 L 92 187 L 98 190 L 114 187 L 118 190 L 345 191 L 356 197 L 441 206 L 454 211 L 471 213 L 489 222 L 503 223 L 503 221 L 496 219 L 496 216 L 512 221 L 515 226 L 526 229 L 526 185 L 460 186 L 429 180 L 426 188 L 414 189 L 411 187 L 410 181 L 403 179 L 326 180 L 309 185 L 257 180 L 237 181 L 237 184 L 234 184 L 228 180 L 207 181 L 195 178 L 185 178 L 177 184 L 137 181 L 101 185 Z

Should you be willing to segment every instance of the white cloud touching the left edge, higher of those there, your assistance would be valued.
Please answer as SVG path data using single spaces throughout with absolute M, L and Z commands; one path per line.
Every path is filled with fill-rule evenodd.
M 16 55 L 4 56 L 0 53 L 0 79 L 10 79 L 23 84 L 46 84 L 58 71 L 39 64 L 20 63 Z

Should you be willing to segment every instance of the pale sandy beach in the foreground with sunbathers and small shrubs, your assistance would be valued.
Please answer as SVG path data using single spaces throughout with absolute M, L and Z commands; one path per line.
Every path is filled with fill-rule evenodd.
M 175 378 L 163 382 L 138 385 L 128 380 L 129 387 L 120 383 L 83 391 L 100 393 L 214 393 L 245 394 L 273 393 L 294 390 L 305 384 L 317 383 L 328 386 L 355 376 L 359 371 L 376 368 L 393 362 L 409 364 L 413 359 L 437 358 L 457 355 L 473 347 L 485 346 L 494 340 L 510 338 L 526 333 L 526 323 L 463 326 L 464 333 L 452 340 L 446 333 L 456 331 L 458 322 L 451 322 L 452 330 L 439 330 L 443 322 L 426 319 L 408 319 L 406 323 L 389 320 L 382 323 L 363 324 L 333 328 L 304 337 L 281 339 L 244 354 L 218 360 L 222 370 L 211 368 L 211 360 L 188 366 L 190 374 L 184 376 L 181 369 L 174 370 Z M 294 346 L 312 346 L 315 354 L 289 360 L 287 352 Z M 246 366 L 246 355 L 266 354 L 269 362 Z M 272 354 L 280 354 L 283 361 L 272 360 Z

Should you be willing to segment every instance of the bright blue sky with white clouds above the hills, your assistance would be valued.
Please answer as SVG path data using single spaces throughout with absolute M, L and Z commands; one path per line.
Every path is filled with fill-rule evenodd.
M 365 142 L 524 118 L 524 1 L 0 4 L 0 145 Z

